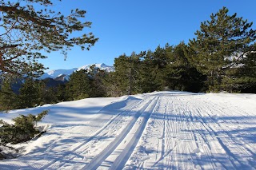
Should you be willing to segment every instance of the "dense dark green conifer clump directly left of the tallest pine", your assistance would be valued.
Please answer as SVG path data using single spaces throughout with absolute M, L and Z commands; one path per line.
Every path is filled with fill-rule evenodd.
M 170 89 L 198 92 L 202 90 L 205 76 L 190 64 L 188 47 L 182 42 L 177 46 L 160 46 L 154 52 L 123 54 L 114 60 L 115 72 L 107 84 L 111 95 L 149 93 Z M 118 93 L 114 93 L 118 92 Z

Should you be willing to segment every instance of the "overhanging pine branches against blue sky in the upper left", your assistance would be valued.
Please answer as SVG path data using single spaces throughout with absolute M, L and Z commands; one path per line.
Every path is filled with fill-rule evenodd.
M 84 21 L 85 10 L 64 15 L 51 8 L 51 0 L 1 0 L 0 4 L 0 70 L 7 73 L 2 76 L 38 77 L 44 69 L 38 59 L 46 58 L 41 51 L 61 50 L 66 57 L 74 45 L 89 50 L 98 40 L 92 33 L 81 34 L 91 26 Z

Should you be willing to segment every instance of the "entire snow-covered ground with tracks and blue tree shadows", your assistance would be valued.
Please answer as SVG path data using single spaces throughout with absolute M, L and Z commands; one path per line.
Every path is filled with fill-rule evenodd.
M 0 169 L 256 169 L 256 95 L 158 92 L 50 109 L 47 132 Z

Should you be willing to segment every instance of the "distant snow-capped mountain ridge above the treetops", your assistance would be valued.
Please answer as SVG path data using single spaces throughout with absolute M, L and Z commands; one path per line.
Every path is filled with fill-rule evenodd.
M 102 64 L 91 64 L 95 65 L 96 68 L 106 70 L 107 72 L 113 72 L 114 71 L 114 66 L 109 66 L 105 65 L 104 63 Z M 73 68 L 73 69 L 54 69 L 50 70 L 47 73 L 42 74 L 40 79 L 46 79 L 46 78 L 53 78 L 53 79 L 62 79 L 64 81 L 65 79 L 68 80 L 70 77 L 70 74 L 73 73 L 74 71 L 80 70 L 80 69 L 90 69 L 91 65 L 83 65 L 78 68 Z M 61 77 L 61 78 L 60 78 Z

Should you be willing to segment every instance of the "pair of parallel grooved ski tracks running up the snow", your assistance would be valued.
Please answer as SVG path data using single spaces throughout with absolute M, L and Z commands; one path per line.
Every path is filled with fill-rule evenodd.
M 106 160 L 106 158 L 110 156 L 111 153 L 114 152 L 114 150 L 118 149 L 118 145 L 122 145 L 122 141 L 124 140 L 125 143 L 127 142 L 126 147 L 122 148 L 122 151 L 120 151 L 119 149 L 119 155 L 114 163 L 103 165 L 101 167 L 101 169 L 104 167 L 110 169 L 122 168 L 126 164 L 126 160 L 128 160 L 128 158 L 130 157 L 130 154 L 133 151 L 134 147 L 138 143 L 138 139 L 142 135 L 142 132 L 146 126 L 146 122 L 150 117 L 150 113 L 152 112 L 152 110 L 154 110 L 154 107 L 157 104 L 157 98 L 158 97 L 150 96 L 149 99 L 146 99 L 147 102 L 142 105 L 142 109 L 138 110 L 135 113 L 130 123 L 126 125 L 126 128 L 122 130 L 120 135 L 117 136 L 110 145 L 108 145 L 101 153 L 98 154 L 98 156 L 94 157 L 94 159 L 91 160 L 89 164 L 86 164 L 86 166 L 82 169 L 97 169 L 98 167 L 100 167 L 102 162 Z M 137 122 L 140 123 L 136 125 Z M 128 136 L 128 139 L 125 138 L 126 136 Z

